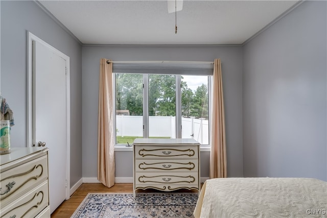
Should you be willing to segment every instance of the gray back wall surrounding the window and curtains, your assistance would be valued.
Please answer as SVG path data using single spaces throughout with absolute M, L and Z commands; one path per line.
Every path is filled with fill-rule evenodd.
M 241 46 L 83 46 L 83 177 L 97 177 L 99 65 L 115 61 L 222 61 L 226 111 L 227 171 L 243 176 Z M 115 152 L 116 177 L 132 177 L 132 152 Z M 209 152 L 201 152 L 201 177 L 208 177 Z

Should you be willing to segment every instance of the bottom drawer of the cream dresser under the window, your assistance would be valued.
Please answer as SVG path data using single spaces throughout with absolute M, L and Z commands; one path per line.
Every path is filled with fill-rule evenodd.
M 136 184 L 198 184 L 198 173 L 135 173 Z

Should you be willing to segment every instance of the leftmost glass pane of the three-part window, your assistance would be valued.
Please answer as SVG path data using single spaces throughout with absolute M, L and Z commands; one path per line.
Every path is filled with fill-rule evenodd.
M 143 75 L 115 74 L 116 144 L 143 138 Z

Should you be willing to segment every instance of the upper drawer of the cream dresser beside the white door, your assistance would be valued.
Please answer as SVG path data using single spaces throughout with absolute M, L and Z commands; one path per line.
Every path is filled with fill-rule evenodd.
M 1 173 L 1 207 L 6 206 L 31 186 L 48 178 L 48 160 L 44 155 Z

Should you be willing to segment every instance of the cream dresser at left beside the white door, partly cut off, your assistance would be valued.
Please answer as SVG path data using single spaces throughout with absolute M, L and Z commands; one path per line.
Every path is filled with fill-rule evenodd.
M 50 217 L 48 149 L 12 148 L 0 159 L 0 217 Z

